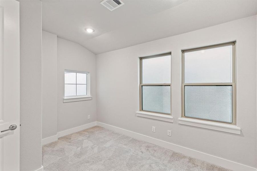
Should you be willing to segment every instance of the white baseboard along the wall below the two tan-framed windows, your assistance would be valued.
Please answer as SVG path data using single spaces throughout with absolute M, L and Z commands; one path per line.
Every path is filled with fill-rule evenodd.
M 197 151 L 197 150 L 193 150 L 193 149 L 186 148 L 186 147 L 183 147 L 183 146 L 179 146 L 179 145 L 176 145 L 176 144 L 172 144 L 172 143 L 169 143 L 169 142 L 166 142 L 166 141 L 155 139 L 155 138 L 152 138 L 152 137 L 149 137 L 149 136 L 146 136 L 146 135 L 135 133 L 135 132 L 132 132 L 132 131 L 129 131 L 129 130 L 126 130 L 126 129 L 122 129 L 122 128 L 119 128 L 119 127 L 115 127 L 115 126 L 112 126 L 112 125 L 108 125 L 108 124 L 105 124 L 105 123 L 96 122 L 96 125 L 100 126 L 100 127 L 103 127 L 103 128 L 106 128 L 106 129 L 110 129 L 112 131 L 115 131 L 115 132 L 118 132 L 118 133 L 121 133 L 121 134 L 124 134 L 124 135 L 127 135 L 127 136 L 135 138 L 135 139 L 143 140 L 143 141 L 146 141 L 148 143 L 167 148 L 169 150 L 180 152 L 180 153 L 185 154 L 187 156 L 191 156 L 191 157 L 194 157 L 194 158 L 198 158 L 200 160 L 204 160 L 204 161 L 209 162 L 209 163 L 216 164 L 218 166 L 222 166 L 222 167 L 230 169 L 230 170 L 234 170 L 234 171 L 242 171 L 242 170 L 244 170 L 244 171 L 256 171 L 257 170 L 256 168 L 246 166 L 244 164 L 240 164 L 240 163 L 233 162 L 233 161 L 230 161 L 230 160 L 227 160 L 227 159 L 224 159 L 224 158 L 220 158 L 220 157 L 217 157 L 217 156 L 206 154 L 206 153 L 203 153 L 203 152 L 200 152 L 200 151 Z

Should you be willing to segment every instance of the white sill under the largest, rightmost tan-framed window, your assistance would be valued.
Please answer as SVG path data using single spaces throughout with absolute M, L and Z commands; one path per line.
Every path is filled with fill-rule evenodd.
M 241 128 L 236 125 L 228 125 L 225 123 L 216 123 L 211 121 L 203 121 L 198 119 L 190 119 L 190 118 L 179 118 L 178 123 L 182 125 L 190 125 L 193 127 L 200 127 L 206 129 L 212 129 L 217 131 L 223 131 L 227 133 L 233 134 L 241 134 Z

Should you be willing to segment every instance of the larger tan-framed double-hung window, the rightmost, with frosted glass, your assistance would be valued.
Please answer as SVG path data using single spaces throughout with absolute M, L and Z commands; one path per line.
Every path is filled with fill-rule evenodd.
M 182 51 L 182 117 L 236 124 L 235 42 Z

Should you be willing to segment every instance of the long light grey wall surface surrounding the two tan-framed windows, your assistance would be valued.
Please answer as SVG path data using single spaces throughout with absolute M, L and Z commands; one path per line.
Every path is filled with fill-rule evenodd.
M 181 49 L 233 40 L 237 41 L 236 103 L 241 135 L 179 125 Z M 174 123 L 137 117 L 138 57 L 170 51 Z M 97 55 L 97 121 L 256 168 L 256 16 Z M 171 137 L 167 129 L 172 130 Z

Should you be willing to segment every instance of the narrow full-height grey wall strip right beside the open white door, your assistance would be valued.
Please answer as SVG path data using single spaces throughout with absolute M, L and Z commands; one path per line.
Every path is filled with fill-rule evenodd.
M 20 0 L 21 171 L 34 171 L 42 166 L 41 14 L 41 1 Z

